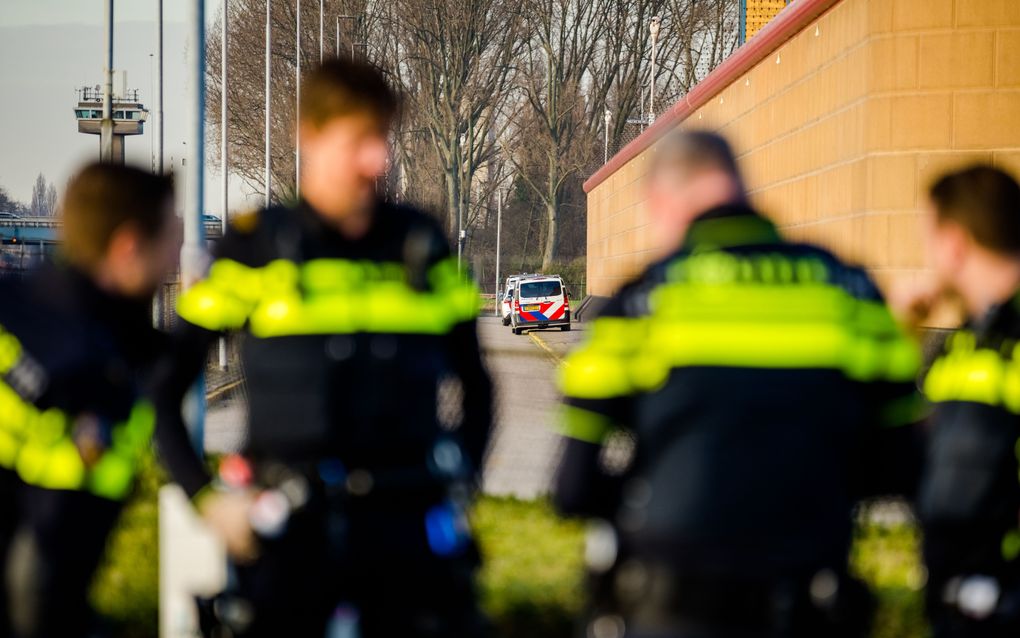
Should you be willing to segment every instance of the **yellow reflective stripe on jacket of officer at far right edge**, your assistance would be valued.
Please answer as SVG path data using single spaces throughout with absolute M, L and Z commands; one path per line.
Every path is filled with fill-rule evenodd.
M 969 401 L 1003 407 L 1020 414 L 1020 347 L 1007 359 L 1002 353 L 977 348 L 969 331 L 950 340 L 947 354 L 931 365 L 924 393 L 936 403 Z

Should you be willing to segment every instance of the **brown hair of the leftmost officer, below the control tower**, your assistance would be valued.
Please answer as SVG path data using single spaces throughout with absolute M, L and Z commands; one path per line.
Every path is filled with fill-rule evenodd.
M 64 255 L 80 266 L 95 265 L 125 224 L 145 238 L 157 237 L 169 222 L 166 204 L 172 197 L 169 177 L 117 164 L 87 165 L 67 184 L 61 204 Z

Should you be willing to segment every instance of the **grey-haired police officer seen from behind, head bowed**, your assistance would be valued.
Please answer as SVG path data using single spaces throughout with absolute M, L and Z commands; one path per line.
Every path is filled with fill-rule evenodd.
M 747 203 L 716 135 L 660 142 L 647 197 L 672 241 L 561 376 L 555 502 L 603 521 L 589 635 L 864 635 L 852 514 L 910 488 L 918 352 L 864 272 Z

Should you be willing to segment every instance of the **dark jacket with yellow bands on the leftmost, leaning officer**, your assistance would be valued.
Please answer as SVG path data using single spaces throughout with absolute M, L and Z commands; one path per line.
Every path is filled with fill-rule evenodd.
M 0 307 L 0 468 L 30 485 L 120 500 L 155 424 L 140 380 L 163 343 L 148 304 L 47 266 L 5 282 Z M 87 465 L 72 437 L 104 451 Z

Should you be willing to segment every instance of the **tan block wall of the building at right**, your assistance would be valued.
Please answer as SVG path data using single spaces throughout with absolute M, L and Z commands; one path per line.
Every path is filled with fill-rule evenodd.
M 844 0 L 681 127 L 730 139 L 787 236 L 882 285 L 924 277 L 918 211 L 934 177 L 974 161 L 1020 174 L 1020 0 Z M 653 152 L 589 193 L 593 294 L 654 254 L 642 192 Z

